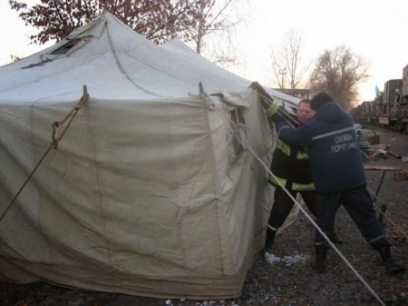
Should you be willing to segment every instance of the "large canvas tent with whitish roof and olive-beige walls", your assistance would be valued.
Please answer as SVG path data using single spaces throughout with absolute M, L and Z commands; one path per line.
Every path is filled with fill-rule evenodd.
M 0 67 L 0 213 L 44 156 L 0 221 L 0 278 L 238 296 L 272 202 L 252 153 L 268 164 L 272 136 L 249 84 L 107 12 Z

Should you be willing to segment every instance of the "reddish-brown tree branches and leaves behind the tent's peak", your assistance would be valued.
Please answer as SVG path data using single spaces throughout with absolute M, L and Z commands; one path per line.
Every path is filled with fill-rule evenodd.
M 229 0 L 228 5 L 232 0 Z M 24 2 L 9 0 L 26 25 L 40 30 L 30 38 L 35 44 L 60 41 L 73 29 L 85 25 L 107 9 L 153 43 L 160 44 L 175 36 L 186 42 L 198 42 L 223 25 L 212 11 L 215 0 L 41 0 L 31 8 Z M 212 12 L 212 13 L 209 13 Z M 198 29 L 193 32 L 192 29 Z

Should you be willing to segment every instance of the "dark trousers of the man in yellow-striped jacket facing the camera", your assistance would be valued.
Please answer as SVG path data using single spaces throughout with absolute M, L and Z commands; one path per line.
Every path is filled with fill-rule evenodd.
M 296 198 L 298 192 L 288 191 L 290 194 Z M 302 195 L 303 201 L 306 203 L 307 209 L 316 215 L 316 192 L 299 192 Z M 293 208 L 295 202 L 287 195 L 287 192 L 281 187 L 275 187 L 274 193 L 274 205 L 272 206 L 272 211 L 269 215 L 269 225 L 278 229 L 287 220 L 287 216 Z

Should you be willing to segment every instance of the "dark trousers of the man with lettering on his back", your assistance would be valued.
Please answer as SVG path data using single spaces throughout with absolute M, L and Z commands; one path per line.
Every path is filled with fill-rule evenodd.
M 316 193 L 316 223 L 330 240 L 333 238 L 335 212 L 340 204 L 343 204 L 364 239 L 375 250 L 388 245 L 383 227 L 375 215 L 373 200 L 365 186 L 341 192 Z M 328 244 L 317 230 L 315 242 L 316 245 Z

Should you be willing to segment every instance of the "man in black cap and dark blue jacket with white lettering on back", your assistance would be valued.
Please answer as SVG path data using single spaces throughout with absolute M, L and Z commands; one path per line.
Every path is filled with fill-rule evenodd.
M 364 165 L 351 115 L 325 93 L 316 94 L 310 105 L 316 114 L 296 129 L 288 127 L 278 115 L 273 115 L 273 119 L 279 138 L 290 145 L 307 147 L 316 186 L 317 225 L 333 241 L 335 212 L 343 204 L 364 239 L 380 252 L 385 270 L 392 273 L 404 271 L 403 265 L 393 261 L 390 244 L 366 190 Z M 274 105 L 270 107 L 267 110 L 269 115 L 274 113 Z M 322 272 L 330 244 L 317 230 L 315 247 L 313 267 Z

